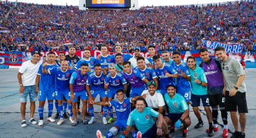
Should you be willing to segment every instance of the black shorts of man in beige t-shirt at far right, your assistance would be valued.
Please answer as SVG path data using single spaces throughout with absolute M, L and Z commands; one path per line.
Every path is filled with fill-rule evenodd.
M 228 94 L 229 94 L 229 91 L 226 91 L 226 94 L 225 94 L 226 111 L 237 112 L 237 109 L 238 109 L 239 113 L 248 113 L 245 92 L 237 91 L 236 95 L 234 95 L 233 97 L 230 97 Z

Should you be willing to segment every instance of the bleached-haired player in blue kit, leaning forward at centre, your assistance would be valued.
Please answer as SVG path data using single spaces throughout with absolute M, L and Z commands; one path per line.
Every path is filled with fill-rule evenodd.
M 126 94 L 127 91 L 127 82 L 125 80 L 125 77 L 123 77 L 123 74 L 116 72 L 116 65 L 109 64 L 108 65 L 110 73 L 105 76 L 105 89 L 108 91 L 108 101 L 113 100 L 114 95 L 116 94 L 117 89 L 124 89 L 124 92 Z M 108 107 L 108 113 L 110 115 L 110 119 L 108 119 L 108 123 L 111 123 L 113 121 L 113 112 L 112 112 L 112 106 Z

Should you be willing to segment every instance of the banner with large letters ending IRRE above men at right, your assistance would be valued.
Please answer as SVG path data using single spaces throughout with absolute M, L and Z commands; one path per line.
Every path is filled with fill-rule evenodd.
M 223 44 L 219 42 L 213 42 L 213 41 L 207 41 L 207 40 L 202 40 L 204 43 L 204 46 L 207 47 L 208 49 L 216 49 L 216 47 L 222 46 L 226 49 L 226 53 L 240 53 L 242 52 L 243 45 L 242 44 Z

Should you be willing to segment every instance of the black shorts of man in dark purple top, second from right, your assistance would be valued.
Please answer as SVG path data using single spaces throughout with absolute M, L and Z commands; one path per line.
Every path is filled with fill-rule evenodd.
M 211 107 L 225 107 L 225 97 L 223 94 L 208 94 Z

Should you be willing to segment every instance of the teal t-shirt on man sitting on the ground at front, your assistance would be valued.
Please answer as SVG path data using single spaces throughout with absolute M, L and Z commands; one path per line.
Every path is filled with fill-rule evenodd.
M 144 134 L 155 124 L 153 117 L 158 117 L 158 112 L 154 109 L 145 107 L 142 113 L 134 109 L 129 115 L 127 125 L 131 127 L 135 124 L 136 128 Z

